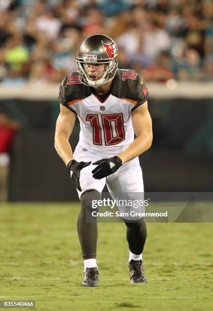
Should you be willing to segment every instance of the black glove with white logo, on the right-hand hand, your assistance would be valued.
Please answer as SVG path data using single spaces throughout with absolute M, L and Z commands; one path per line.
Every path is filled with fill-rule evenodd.
M 95 179 L 101 179 L 115 173 L 120 166 L 122 166 L 122 160 L 115 155 L 115 157 L 110 159 L 102 159 L 92 163 L 97 165 L 94 170 L 92 170 L 92 177 Z

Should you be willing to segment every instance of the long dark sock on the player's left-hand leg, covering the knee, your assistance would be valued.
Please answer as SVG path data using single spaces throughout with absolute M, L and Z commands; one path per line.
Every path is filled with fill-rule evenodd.
M 96 258 L 97 219 L 92 217 L 92 200 L 99 200 L 100 193 L 88 190 L 81 196 L 81 211 L 78 216 L 77 229 L 84 259 Z M 89 221 L 89 222 L 88 222 Z

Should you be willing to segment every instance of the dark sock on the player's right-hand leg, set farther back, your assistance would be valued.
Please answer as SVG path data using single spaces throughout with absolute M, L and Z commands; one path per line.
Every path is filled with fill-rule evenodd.
M 127 222 L 123 219 L 126 229 L 126 238 L 129 244 L 129 250 L 133 254 L 139 255 L 144 250 L 147 238 L 147 226 L 143 218 L 135 222 Z

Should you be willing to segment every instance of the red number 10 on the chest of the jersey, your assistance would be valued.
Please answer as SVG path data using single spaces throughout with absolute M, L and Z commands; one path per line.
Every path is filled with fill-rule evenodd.
M 117 114 L 102 114 L 102 129 L 99 124 L 97 114 L 88 114 L 86 121 L 90 121 L 93 129 L 93 143 L 102 145 L 101 131 L 104 132 L 105 145 L 116 145 L 125 139 L 123 113 Z

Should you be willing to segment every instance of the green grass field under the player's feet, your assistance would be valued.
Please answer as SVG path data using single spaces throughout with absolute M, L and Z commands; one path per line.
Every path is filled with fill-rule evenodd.
M 210 310 L 211 223 L 148 223 L 148 284 L 129 283 L 125 225 L 99 223 L 98 288 L 82 288 L 79 204 L 0 206 L 0 300 L 37 310 Z

